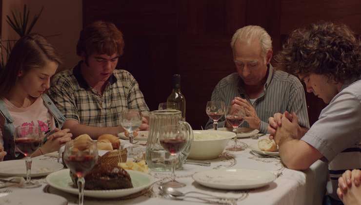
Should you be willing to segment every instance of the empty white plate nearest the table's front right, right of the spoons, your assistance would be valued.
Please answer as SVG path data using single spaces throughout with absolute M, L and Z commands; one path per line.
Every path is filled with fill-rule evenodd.
M 249 189 L 266 186 L 276 179 L 276 175 L 257 169 L 212 169 L 193 174 L 199 184 L 219 189 Z

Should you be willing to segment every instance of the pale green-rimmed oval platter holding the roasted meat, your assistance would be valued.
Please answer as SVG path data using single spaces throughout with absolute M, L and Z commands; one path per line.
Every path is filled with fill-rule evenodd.
M 69 175 L 70 169 L 62 169 L 54 173 L 49 174 L 46 177 L 46 182 L 57 189 L 62 191 L 79 194 L 79 189 L 73 187 L 73 182 Z M 130 194 L 137 193 L 144 188 L 150 186 L 154 182 L 153 176 L 142 173 L 140 171 L 126 170 L 134 188 L 114 189 L 114 190 L 84 190 L 84 196 L 94 198 L 118 198 L 128 196 Z M 86 182 L 85 182 L 86 183 Z

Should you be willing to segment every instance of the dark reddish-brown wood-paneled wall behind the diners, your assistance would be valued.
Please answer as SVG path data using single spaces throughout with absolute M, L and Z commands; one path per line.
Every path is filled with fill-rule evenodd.
M 290 31 L 319 19 L 361 34 L 360 11 L 360 0 L 83 0 L 83 24 L 103 19 L 120 28 L 125 53 L 117 68 L 136 77 L 150 110 L 165 102 L 172 75 L 180 74 L 186 120 L 198 130 L 215 85 L 236 71 L 229 43 L 237 29 L 260 25 L 276 55 Z M 313 93 L 306 101 L 312 125 L 326 104 Z

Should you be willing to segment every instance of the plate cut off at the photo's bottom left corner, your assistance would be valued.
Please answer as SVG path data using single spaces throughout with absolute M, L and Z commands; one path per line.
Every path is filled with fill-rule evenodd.
M 4 205 L 67 205 L 64 197 L 41 192 L 1 193 L 0 202 Z M 0 203 L 2 205 L 2 203 Z

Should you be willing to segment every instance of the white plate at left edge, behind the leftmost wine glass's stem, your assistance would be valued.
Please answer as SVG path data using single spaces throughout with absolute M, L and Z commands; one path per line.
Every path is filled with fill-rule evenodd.
M 33 160 L 31 164 L 31 177 L 46 176 L 54 171 L 62 169 L 64 166 L 59 162 L 46 160 Z M 45 168 L 49 169 L 44 171 Z M 43 169 L 43 170 L 42 170 Z M 26 179 L 25 160 L 9 160 L 0 162 L 0 175 L 2 176 L 19 176 Z

